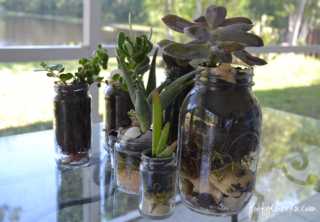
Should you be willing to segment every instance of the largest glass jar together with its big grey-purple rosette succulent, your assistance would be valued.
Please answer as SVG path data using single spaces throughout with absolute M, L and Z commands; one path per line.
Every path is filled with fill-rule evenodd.
M 190 59 L 195 86 L 179 117 L 178 187 L 184 204 L 212 216 L 239 213 L 253 195 L 262 113 L 252 92 L 253 68 L 228 64 L 232 55 L 248 65 L 266 62 L 244 49 L 263 46 L 250 19 L 225 18 L 226 9 L 209 5 L 189 22 L 167 15 L 171 29 L 194 38 L 186 44 L 161 40 L 164 53 Z M 220 64 L 217 64 L 220 63 Z

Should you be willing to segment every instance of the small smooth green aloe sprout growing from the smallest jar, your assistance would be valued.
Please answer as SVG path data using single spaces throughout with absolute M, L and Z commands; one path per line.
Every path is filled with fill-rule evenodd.
M 165 148 L 167 143 L 170 123 L 166 123 L 162 131 L 162 111 L 161 99 L 157 90 L 153 91 L 153 109 L 152 109 L 152 157 L 153 158 L 168 158 L 177 147 L 178 140 L 172 143 L 171 146 Z M 161 133 L 162 131 L 162 133 Z

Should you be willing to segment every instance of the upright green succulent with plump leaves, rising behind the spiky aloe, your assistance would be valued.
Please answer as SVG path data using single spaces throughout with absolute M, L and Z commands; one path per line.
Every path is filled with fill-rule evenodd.
M 129 27 L 131 40 L 123 31 L 120 31 L 118 34 L 118 47 L 115 46 L 118 66 L 121 68 L 119 63 L 119 57 L 121 56 L 123 61 L 125 61 L 125 65 L 131 78 L 136 79 L 137 76 L 142 78 L 143 75 L 150 69 L 150 58 L 148 54 L 153 49 L 153 44 L 150 42 L 152 36 L 152 27 L 150 28 L 149 36 L 139 35 L 133 38 L 130 14 Z

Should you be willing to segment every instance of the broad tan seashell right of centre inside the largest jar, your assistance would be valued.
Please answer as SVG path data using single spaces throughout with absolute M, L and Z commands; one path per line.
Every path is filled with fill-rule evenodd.
M 241 191 L 250 185 L 253 180 L 254 174 L 249 172 L 245 176 L 240 178 L 236 177 L 233 173 L 229 173 L 226 176 L 217 177 L 214 174 L 210 175 L 210 181 L 213 183 L 222 193 L 228 196 L 240 196 Z

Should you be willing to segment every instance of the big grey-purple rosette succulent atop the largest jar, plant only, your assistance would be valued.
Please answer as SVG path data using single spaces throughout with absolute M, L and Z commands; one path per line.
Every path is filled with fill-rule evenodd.
M 249 33 L 254 25 L 245 17 L 226 19 L 226 8 L 209 5 L 204 15 L 190 22 L 177 15 L 166 15 L 164 24 L 174 31 L 185 33 L 194 40 L 182 44 L 170 40 L 161 40 L 158 45 L 163 52 L 179 59 L 192 59 L 190 64 L 208 62 L 232 62 L 232 54 L 248 65 L 267 64 L 261 58 L 250 55 L 246 47 L 261 47 L 263 40 L 258 35 Z

